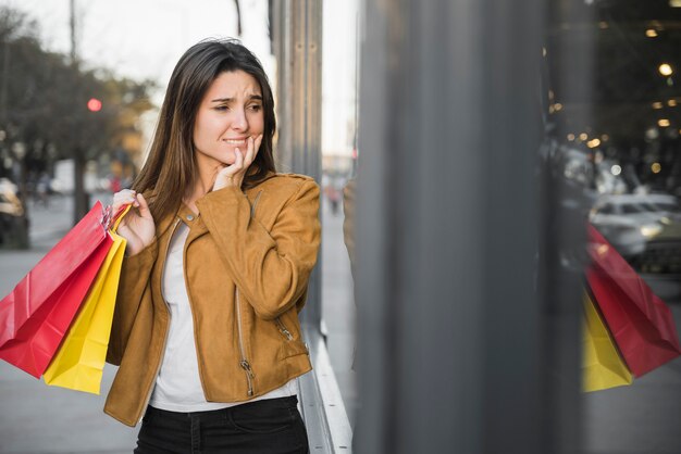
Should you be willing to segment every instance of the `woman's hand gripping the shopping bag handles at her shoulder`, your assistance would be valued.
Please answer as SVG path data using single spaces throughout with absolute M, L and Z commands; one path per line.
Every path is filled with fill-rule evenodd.
M 113 194 L 112 212 L 117 213 L 123 205 L 133 205 L 139 212 L 128 211 L 116 229 L 116 232 L 127 240 L 126 255 L 131 256 L 151 244 L 156 236 L 156 224 L 143 194 L 131 189 Z

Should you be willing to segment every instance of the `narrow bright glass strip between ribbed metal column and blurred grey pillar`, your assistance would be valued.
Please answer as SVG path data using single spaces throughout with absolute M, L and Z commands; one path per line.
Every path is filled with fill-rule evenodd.
M 358 407 L 354 192 L 357 168 L 357 46 L 360 3 L 324 3 L 322 70 L 322 332 L 350 423 Z M 352 33 L 355 31 L 355 33 Z M 343 37 L 343 39 L 338 39 Z M 330 56 L 333 55 L 333 56 Z

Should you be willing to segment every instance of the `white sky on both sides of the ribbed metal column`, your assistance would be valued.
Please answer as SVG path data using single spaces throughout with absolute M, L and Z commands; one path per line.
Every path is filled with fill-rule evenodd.
M 48 50 L 70 53 L 70 0 L 0 0 L 39 23 Z M 119 76 L 152 79 L 164 87 L 179 56 L 208 37 L 236 37 L 233 0 L 75 0 L 76 49 L 91 67 Z M 270 54 L 268 1 L 240 0 L 242 41 L 261 60 L 275 84 L 276 62 Z M 355 135 L 358 0 L 327 1 L 323 10 L 322 152 L 349 155 Z M 146 118 L 152 127 L 156 113 Z

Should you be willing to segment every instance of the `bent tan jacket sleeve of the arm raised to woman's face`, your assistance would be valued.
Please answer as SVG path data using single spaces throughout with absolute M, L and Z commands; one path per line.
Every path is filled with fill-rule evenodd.
M 319 197 L 317 184 L 304 179 L 270 231 L 251 219 L 250 203 L 237 188 L 197 202 L 237 288 L 261 318 L 280 316 L 306 294 L 320 243 Z

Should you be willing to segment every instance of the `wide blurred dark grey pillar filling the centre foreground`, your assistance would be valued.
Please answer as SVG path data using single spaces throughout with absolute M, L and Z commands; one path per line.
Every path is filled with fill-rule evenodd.
M 579 280 L 536 276 L 573 241 L 542 224 L 543 3 L 364 8 L 356 450 L 578 452 Z

